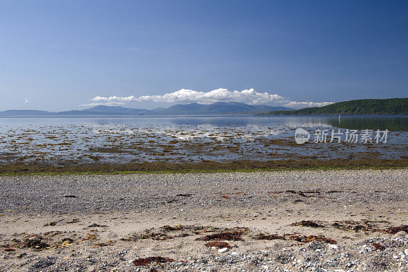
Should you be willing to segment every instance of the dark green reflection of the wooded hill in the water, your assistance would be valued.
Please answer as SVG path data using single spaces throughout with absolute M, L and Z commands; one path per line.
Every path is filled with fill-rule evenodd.
M 408 117 L 342 117 L 327 120 L 330 126 L 354 130 L 408 131 Z

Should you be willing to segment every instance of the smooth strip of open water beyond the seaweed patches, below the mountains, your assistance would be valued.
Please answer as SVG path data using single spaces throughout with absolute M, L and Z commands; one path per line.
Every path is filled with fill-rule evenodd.
M 122 124 L 160 124 L 173 125 L 280 125 L 290 127 L 335 127 L 348 129 L 373 129 L 389 131 L 408 131 L 408 115 L 395 116 L 261 116 L 261 115 L 139 115 L 131 117 L 0 117 L 0 128 L 32 125 L 122 125 Z

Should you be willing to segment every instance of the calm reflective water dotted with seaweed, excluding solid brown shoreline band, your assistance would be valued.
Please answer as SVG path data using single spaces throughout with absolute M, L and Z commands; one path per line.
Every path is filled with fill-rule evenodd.
M 408 116 L 177 115 L 0 118 L 0 162 L 408 158 Z M 294 141 L 296 128 L 388 130 L 386 143 Z M 329 134 L 329 133 L 328 133 Z M 329 141 L 330 138 L 327 138 Z

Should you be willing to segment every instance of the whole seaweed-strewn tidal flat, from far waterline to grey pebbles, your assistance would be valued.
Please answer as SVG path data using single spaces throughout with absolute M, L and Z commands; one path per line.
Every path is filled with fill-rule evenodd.
M 408 159 L 407 120 L 401 116 L 0 118 L 0 171 L 304 168 L 308 164 L 403 167 Z M 327 130 L 326 142 L 297 144 L 296 128 L 312 137 L 317 130 Z M 359 133 L 387 129 L 387 141 L 331 139 L 332 130 L 344 134 L 348 129 Z

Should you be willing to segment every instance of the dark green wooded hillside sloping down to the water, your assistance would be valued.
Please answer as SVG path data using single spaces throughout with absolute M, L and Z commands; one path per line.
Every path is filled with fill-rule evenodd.
M 266 115 L 408 115 L 408 98 L 360 99 L 343 101 L 324 107 L 279 110 Z

